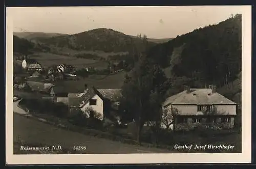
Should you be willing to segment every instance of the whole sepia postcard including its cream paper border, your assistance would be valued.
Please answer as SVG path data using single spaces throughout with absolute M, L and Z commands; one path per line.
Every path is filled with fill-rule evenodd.
M 6 13 L 10 161 L 250 162 L 250 6 Z

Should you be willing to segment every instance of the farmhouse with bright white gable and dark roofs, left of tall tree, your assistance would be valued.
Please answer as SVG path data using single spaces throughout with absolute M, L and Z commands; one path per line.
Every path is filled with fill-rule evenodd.
M 70 110 L 81 110 L 88 117 L 94 112 L 100 120 L 118 121 L 120 89 L 96 89 L 84 85 L 83 93 L 69 93 Z

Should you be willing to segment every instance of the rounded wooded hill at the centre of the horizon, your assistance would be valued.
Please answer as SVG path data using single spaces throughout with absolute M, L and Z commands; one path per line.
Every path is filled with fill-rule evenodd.
M 40 39 L 57 47 L 67 47 L 74 50 L 100 50 L 104 52 L 126 52 L 134 48 L 142 49 L 145 45 L 152 47 L 156 43 L 143 41 L 143 38 L 132 38 L 112 29 L 94 29 L 74 35 L 58 36 Z

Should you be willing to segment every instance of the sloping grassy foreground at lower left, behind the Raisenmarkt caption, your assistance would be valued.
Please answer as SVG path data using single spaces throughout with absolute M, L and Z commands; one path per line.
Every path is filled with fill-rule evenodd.
M 110 153 L 172 153 L 169 150 L 128 145 L 112 140 L 84 135 L 54 127 L 22 115 L 13 115 L 14 154 L 49 154 L 47 152 L 21 152 L 20 146 L 61 146 L 65 152 L 75 154 Z M 74 146 L 86 146 L 86 150 L 73 150 Z

